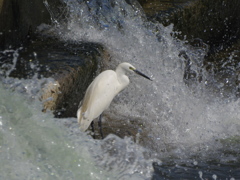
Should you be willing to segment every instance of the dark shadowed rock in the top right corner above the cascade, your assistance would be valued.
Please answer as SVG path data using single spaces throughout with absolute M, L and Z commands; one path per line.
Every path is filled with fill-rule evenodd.
M 176 2 L 179 2 L 179 5 L 176 5 Z M 176 2 L 173 3 L 172 11 L 169 9 L 158 11 L 150 15 L 149 19 L 157 20 L 164 25 L 173 23 L 174 30 L 181 32 L 177 35 L 178 38 L 189 41 L 200 38 L 210 45 L 209 52 L 227 48 L 239 39 L 240 2 L 238 0 L 180 0 Z

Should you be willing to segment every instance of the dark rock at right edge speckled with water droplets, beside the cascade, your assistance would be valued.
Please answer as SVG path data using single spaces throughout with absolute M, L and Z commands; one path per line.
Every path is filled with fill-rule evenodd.
M 222 96 L 229 97 L 236 94 L 240 98 L 240 40 L 232 46 L 210 54 L 205 62 L 205 68 L 214 74 L 215 84 L 221 84 Z M 214 89 L 217 92 L 217 89 Z

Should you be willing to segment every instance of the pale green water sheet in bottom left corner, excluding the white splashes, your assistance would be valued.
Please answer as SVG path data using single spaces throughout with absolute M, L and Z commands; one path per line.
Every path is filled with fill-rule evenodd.
M 0 96 L 0 179 L 105 179 L 84 141 L 75 147 L 40 102 L 1 85 Z

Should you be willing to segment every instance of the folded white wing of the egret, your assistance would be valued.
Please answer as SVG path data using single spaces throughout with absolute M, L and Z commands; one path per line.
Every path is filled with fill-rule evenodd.
M 118 86 L 116 73 L 107 70 L 99 74 L 88 87 L 81 108 L 78 110 L 80 128 L 84 131 L 93 119 L 108 108 L 116 96 Z

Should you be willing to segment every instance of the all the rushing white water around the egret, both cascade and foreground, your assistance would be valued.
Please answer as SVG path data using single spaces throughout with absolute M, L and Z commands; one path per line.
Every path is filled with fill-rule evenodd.
M 131 84 L 105 113 L 139 126 L 137 143 L 116 135 L 94 140 L 79 131 L 75 118 L 42 113 L 38 99 L 52 79 L 8 77 L 21 49 L 5 50 L 1 54 L 12 54 L 13 65 L 1 72 L 0 178 L 240 179 L 240 101 L 234 87 L 225 92 L 224 84 L 202 69 L 207 45 L 196 48 L 175 39 L 173 25 L 147 22 L 137 4 L 66 3 L 68 17 L 53 17 L 47 32 L 62 41 L 101 43 L 112 68 L 127 61 L 152 76 L 153 82 L 130 76 Z M 181 52 L 195 74 L 187 83 Z

